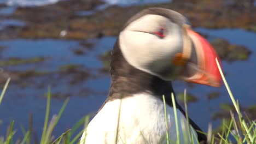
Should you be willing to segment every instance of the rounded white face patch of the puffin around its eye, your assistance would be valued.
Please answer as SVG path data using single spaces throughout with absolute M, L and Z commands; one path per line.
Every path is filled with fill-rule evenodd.
M 164 28 L 165 38 L 154 32 Z M 172 65 L 172 58 L 182 52 L 182 29 L 164 16 L 144 15 L 130 23 L 119 35 L 120 49 L 133 67 L 167 79 L 159 73 Z

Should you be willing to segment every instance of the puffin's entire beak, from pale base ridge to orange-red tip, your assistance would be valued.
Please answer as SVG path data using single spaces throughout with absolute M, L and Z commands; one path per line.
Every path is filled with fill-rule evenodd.
M 183 53 L 182 56 L 178 56 L 178 58 L 174 59 L 182 59 L 182 61 L 176 63 L 184 64 L 187 62 L 187 64 L 190 64 L 187 70 L 193 69 L 195 71 L 194 75 L 185 77 L 184 80 L 202 85 L 220 87 L 221 75 L 216 63 L 216 58 L 219 61 L 219 57 L 216 51 L 205 38 L 191 30 L 187 25 L 183 27 L 183 31 Z M 193 46 L 195 47 L 197 58 L 196 64 L 189 63 Z M 179 55 L 181 55 L 181 53 Z

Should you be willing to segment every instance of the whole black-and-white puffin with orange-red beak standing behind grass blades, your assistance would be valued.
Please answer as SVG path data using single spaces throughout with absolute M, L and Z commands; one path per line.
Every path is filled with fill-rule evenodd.
M 211 44 L 191 29 L 182 14 L 154 7 L 140 11 L 118 35 L 110 57 L 107 99 L 80 143 L 206 143 L 206 135 L 186 119 L 175 98 L 174 115 L 171 81 L 219 87 L 216 58 L 219 61 Z

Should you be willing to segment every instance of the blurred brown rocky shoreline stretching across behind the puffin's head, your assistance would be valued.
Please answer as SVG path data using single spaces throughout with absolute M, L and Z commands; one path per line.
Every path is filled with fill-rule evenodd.
M 73 0 L 40 7 L 18 7 L 12 15 L 0 18 L 24 21 L 26 26 L 7 27 L 0 35 L 14 38 L 11 34 L 16 34 L 16 37 L 26 39 L 91 39 L 98 38 L 99 35 L 117 35 L 129 17 L 148 7 L 176 10 L 188 17 L 193 27 L 242 28 L 256 32 L 256 7 L 250 1 L 234 0 L 227 3 L 225 0 L 176 0 L 171 3 L 129 7 L 111 5 L 97 10 L 103 4 L 101 0 Z M 90 13 L 79 15 L 86 11 Z M 8 31 L 12 33 L 7 33 Z

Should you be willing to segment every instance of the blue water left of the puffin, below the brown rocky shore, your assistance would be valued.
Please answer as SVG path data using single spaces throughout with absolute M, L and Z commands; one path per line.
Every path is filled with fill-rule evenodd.
M 1 46 L 8 47 L 2 52 L 2 59 L 8 57 L 32 58 L 32 57 L 49 57 L 46 61 L 39 64 L 26 64 L 18 66 L 4 67 L 4 70 L 47 70 L 56 71 L 65 64 L 82 64 L 86 68 L 96 69 L 102 67 L 102 63 L 98 61 L 98 57 L 102 52 L 110 50 L 116 38 L 102 38 L 95 44 L 95 50 L 91 50 L 84 56 L 74 55 L 73 49 L 79 47 L 78 41 L 64 40 L 7 40 L 0 41 Z M 92 40 L 93 41 L 93 40 Z M 40 134 L 43 127 L 44 112 L 46 100 L 44 94 L 48 86 L 51 87 L 53 93 L 72 93 L 83 89 L 91 89 L 99 94 L 72 95 L 68 103 L 66 111 L 63 113 L 62 122 L 57 125 L 55 134 L 59 135 L 64 130 L 71 128 L 83 116 L 90 112 L 97 111 L 98 107 L 103 103 L 104 97 L 108 93 L 109 77 L 101 76 L 98 79 L 89 79 L 78 85 L 70 86 L 67 80 L 70 77 L 63 77 L 61 80 L 49 79 L 49 77 L 38 77 L 34 81 L 35 84 L 26 88 L 14 85 L 12 81 L 5 94 L 2 105 L 0 105 L 0 119 L 3 121 L 0 125 L 0 135 L 4 135 L 10 119 L 15 119 L 18 129 L 17 135 L 21 135 L 19 124 L 22 123 L 27 128 L 28 116 L 30 113 L 34 115 L 34 130 Z M 22 81 L 27 81 L 22 79 Z M 43 82 L 44 86 L 38 88 L 38 83 Z M 51 107 L 51 115 L 57 113 L 64 99 L 53 99 Z M 75 111 L 75 113 L 74 113 Z

